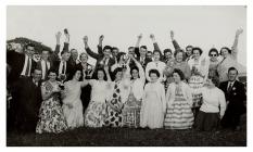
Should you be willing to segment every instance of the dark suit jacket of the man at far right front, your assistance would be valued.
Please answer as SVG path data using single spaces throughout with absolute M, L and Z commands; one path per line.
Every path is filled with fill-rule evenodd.
M 243 102 L 246 100 L 246 94 L 242 83 L 236 80 L 230 92 L 227 90 L 228 81 L 220 83 L 219 88 L 225 92 L 226 101 L 229 101 L 227 110 L 239 114 L 245 112 Z

